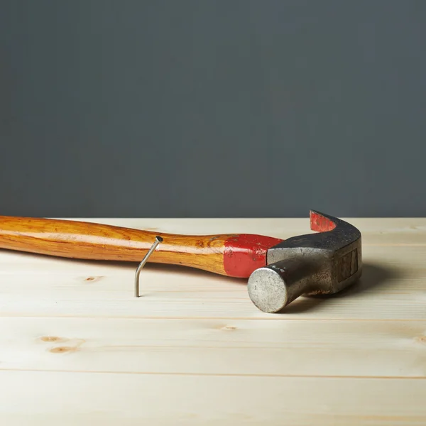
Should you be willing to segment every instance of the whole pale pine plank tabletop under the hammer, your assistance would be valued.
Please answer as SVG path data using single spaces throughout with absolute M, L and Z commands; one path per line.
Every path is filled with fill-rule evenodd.
M 80 219 L 288 238 L 309 219 Z M 246 281 L 0 252 L 0 425 L 426 425 L 426 219 L 346 219 L 364 274 L 283 314 Z

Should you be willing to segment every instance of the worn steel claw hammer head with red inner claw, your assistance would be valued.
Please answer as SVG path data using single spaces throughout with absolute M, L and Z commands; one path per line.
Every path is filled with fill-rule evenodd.
M 300 295 L 337 293 L 361 276 L 361 232 L 336 217 L 310 212 L 312 231 L 268 249 L 248 291 L 263 312 L 279 312 Z

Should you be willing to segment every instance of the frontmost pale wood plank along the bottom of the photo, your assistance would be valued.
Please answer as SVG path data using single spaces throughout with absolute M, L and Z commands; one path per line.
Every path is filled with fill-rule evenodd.
M 0 372 L 0 423 L 425 425 L 426 380 Z

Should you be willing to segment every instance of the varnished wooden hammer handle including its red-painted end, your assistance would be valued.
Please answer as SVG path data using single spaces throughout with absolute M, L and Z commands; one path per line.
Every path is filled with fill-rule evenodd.
M 282 241 L 253 234 L 178 235 L 92 222 L 0 216 L 0 249 L 65 258 L 139 262 L 157 235 L 164 241 L 150 262 L 238 278 L 265 266 L 266 251 Z

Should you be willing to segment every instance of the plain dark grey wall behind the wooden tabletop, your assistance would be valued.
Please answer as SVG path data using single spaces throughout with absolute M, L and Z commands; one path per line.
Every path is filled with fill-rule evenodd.
M 0 214 L 426 216 L 426 1 L 0 0 Z

